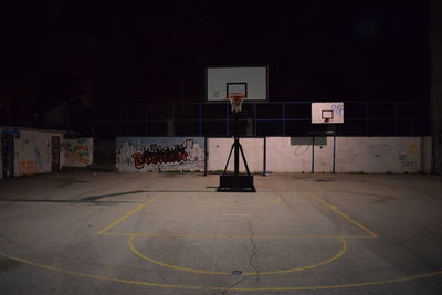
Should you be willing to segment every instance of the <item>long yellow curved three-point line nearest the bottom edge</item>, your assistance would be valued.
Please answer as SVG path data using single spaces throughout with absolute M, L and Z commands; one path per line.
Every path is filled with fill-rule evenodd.
M 63 270 L 60 267 L 51 266 L 51 265 L 45 265 L 41 263 L 36 263 L 33 261 L 15 257 L 12 255 L 8 255 L 6 253 L 0 252 L 0 256 L 35 266 L 42 270 L 46 271 L 52 271 L 52 272 L 57 272 L 57 273 L 63 273 L 63 274 L 70 274 L 70 275 L 77 275 L 82 277 L 87 277 L 87 278 L 94 278 L 94 280 L 101 280 L 101 281 L 107 281 L 107 282 L 116 282 L 116 283 L 124 283 L 124 284 L 130 284 L 130 285 L 138 285 L 138 286 L 148 286 L 148 287 L 161 287 L 161 288 L 176 288 L 176 289 L 204 289 L 204 291 L 252 291 L 252 292 L 264 292 L 264 291 L 308 291 L 308 289 L 337 289 L 337 288 L 351 288 L 351 287 L 366 287 L 366 286 L 376 286 L 376 285 L 385 285 L 385 284 L 392 284 L 392 283 L 401 283 L 401 282 L 407 282 L 407 281 L 412 281 L 412 280 L 420 280 L 420 278 L 428 278 L 432 276 L 438 276 L 442 275 L 442 270 L 436 271 L 436 272 L 431 272 L 431 273 L 424 273 L 424 274 L 417 274 L 417 275 L 410 275 L 410 276 L 403 276 L 403 277 L 397 277 L 397 278 L 390 278 L 390 280 L 382 280 L 382 281 L 375 281 L 375 282 L 365 282 L 365 283 L 350 283 L 350 284 L 338 284 L 338 285 L 323 285 L 323 286 L 286 286 L 286 287 L 215 287 L 215 286 L 197 286 L 197 285 L 175 285 L 175 284 L 162 284 L 162 283 L 151 283 L 151 282 L 143 282 L 143 281 L 133 281 L 133 280 L 123 280 L 118 277 L 110 277 L 110 276 L 104 276 L 104 275 L 94 275 L 94 274 L 87 274 L 87 273 L 82 273 L 82 272 L 75 272 L 75 271 L 69 271 L 69 270 Z

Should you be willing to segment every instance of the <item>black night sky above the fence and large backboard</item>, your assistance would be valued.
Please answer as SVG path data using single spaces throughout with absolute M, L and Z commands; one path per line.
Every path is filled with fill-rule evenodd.
M 209 65 L 267 65 L 271 101 L 428 101 L 422 0 L 11 2 L 2 105 L 203 102 Z

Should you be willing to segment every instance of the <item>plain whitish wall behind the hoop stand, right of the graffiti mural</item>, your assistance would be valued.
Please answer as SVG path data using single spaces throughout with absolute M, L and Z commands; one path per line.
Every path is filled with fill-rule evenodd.
M 267 137 L 267 172 L 431 171 L 431 137 Z M 223 170 L 232 138 L 208 139 L 208 170 Z M 251 171 L 263 171 L 263 139 L 242 138 Z M 335 146 L 335 151 L 334 151 Z M 313 147 L 313 148 L 312 148 Z M 241 164 L 241 162 L 240 162 Z M 228 170 L 233 170 L 233 159 Z M 244 171 L 243 166 L 241 170 Z

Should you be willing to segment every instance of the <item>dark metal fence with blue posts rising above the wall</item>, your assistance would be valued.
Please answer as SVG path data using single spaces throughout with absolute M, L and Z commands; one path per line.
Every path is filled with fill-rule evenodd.
M 244 103 L 241 136 L 424 136 L 429 109 L 414 102 L 345 102 L 344 124 L 312 124 L 311 102 Z M 232 136 L 229 103 L 95 106 L 87 123 L 95 137 Z

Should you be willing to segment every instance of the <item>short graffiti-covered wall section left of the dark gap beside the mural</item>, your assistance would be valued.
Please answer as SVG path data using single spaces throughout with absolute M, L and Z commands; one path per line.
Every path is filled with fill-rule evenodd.
M 65 167 L 87 167 L 94 162 L 94 139 L 66 138 L 63 141 Z

